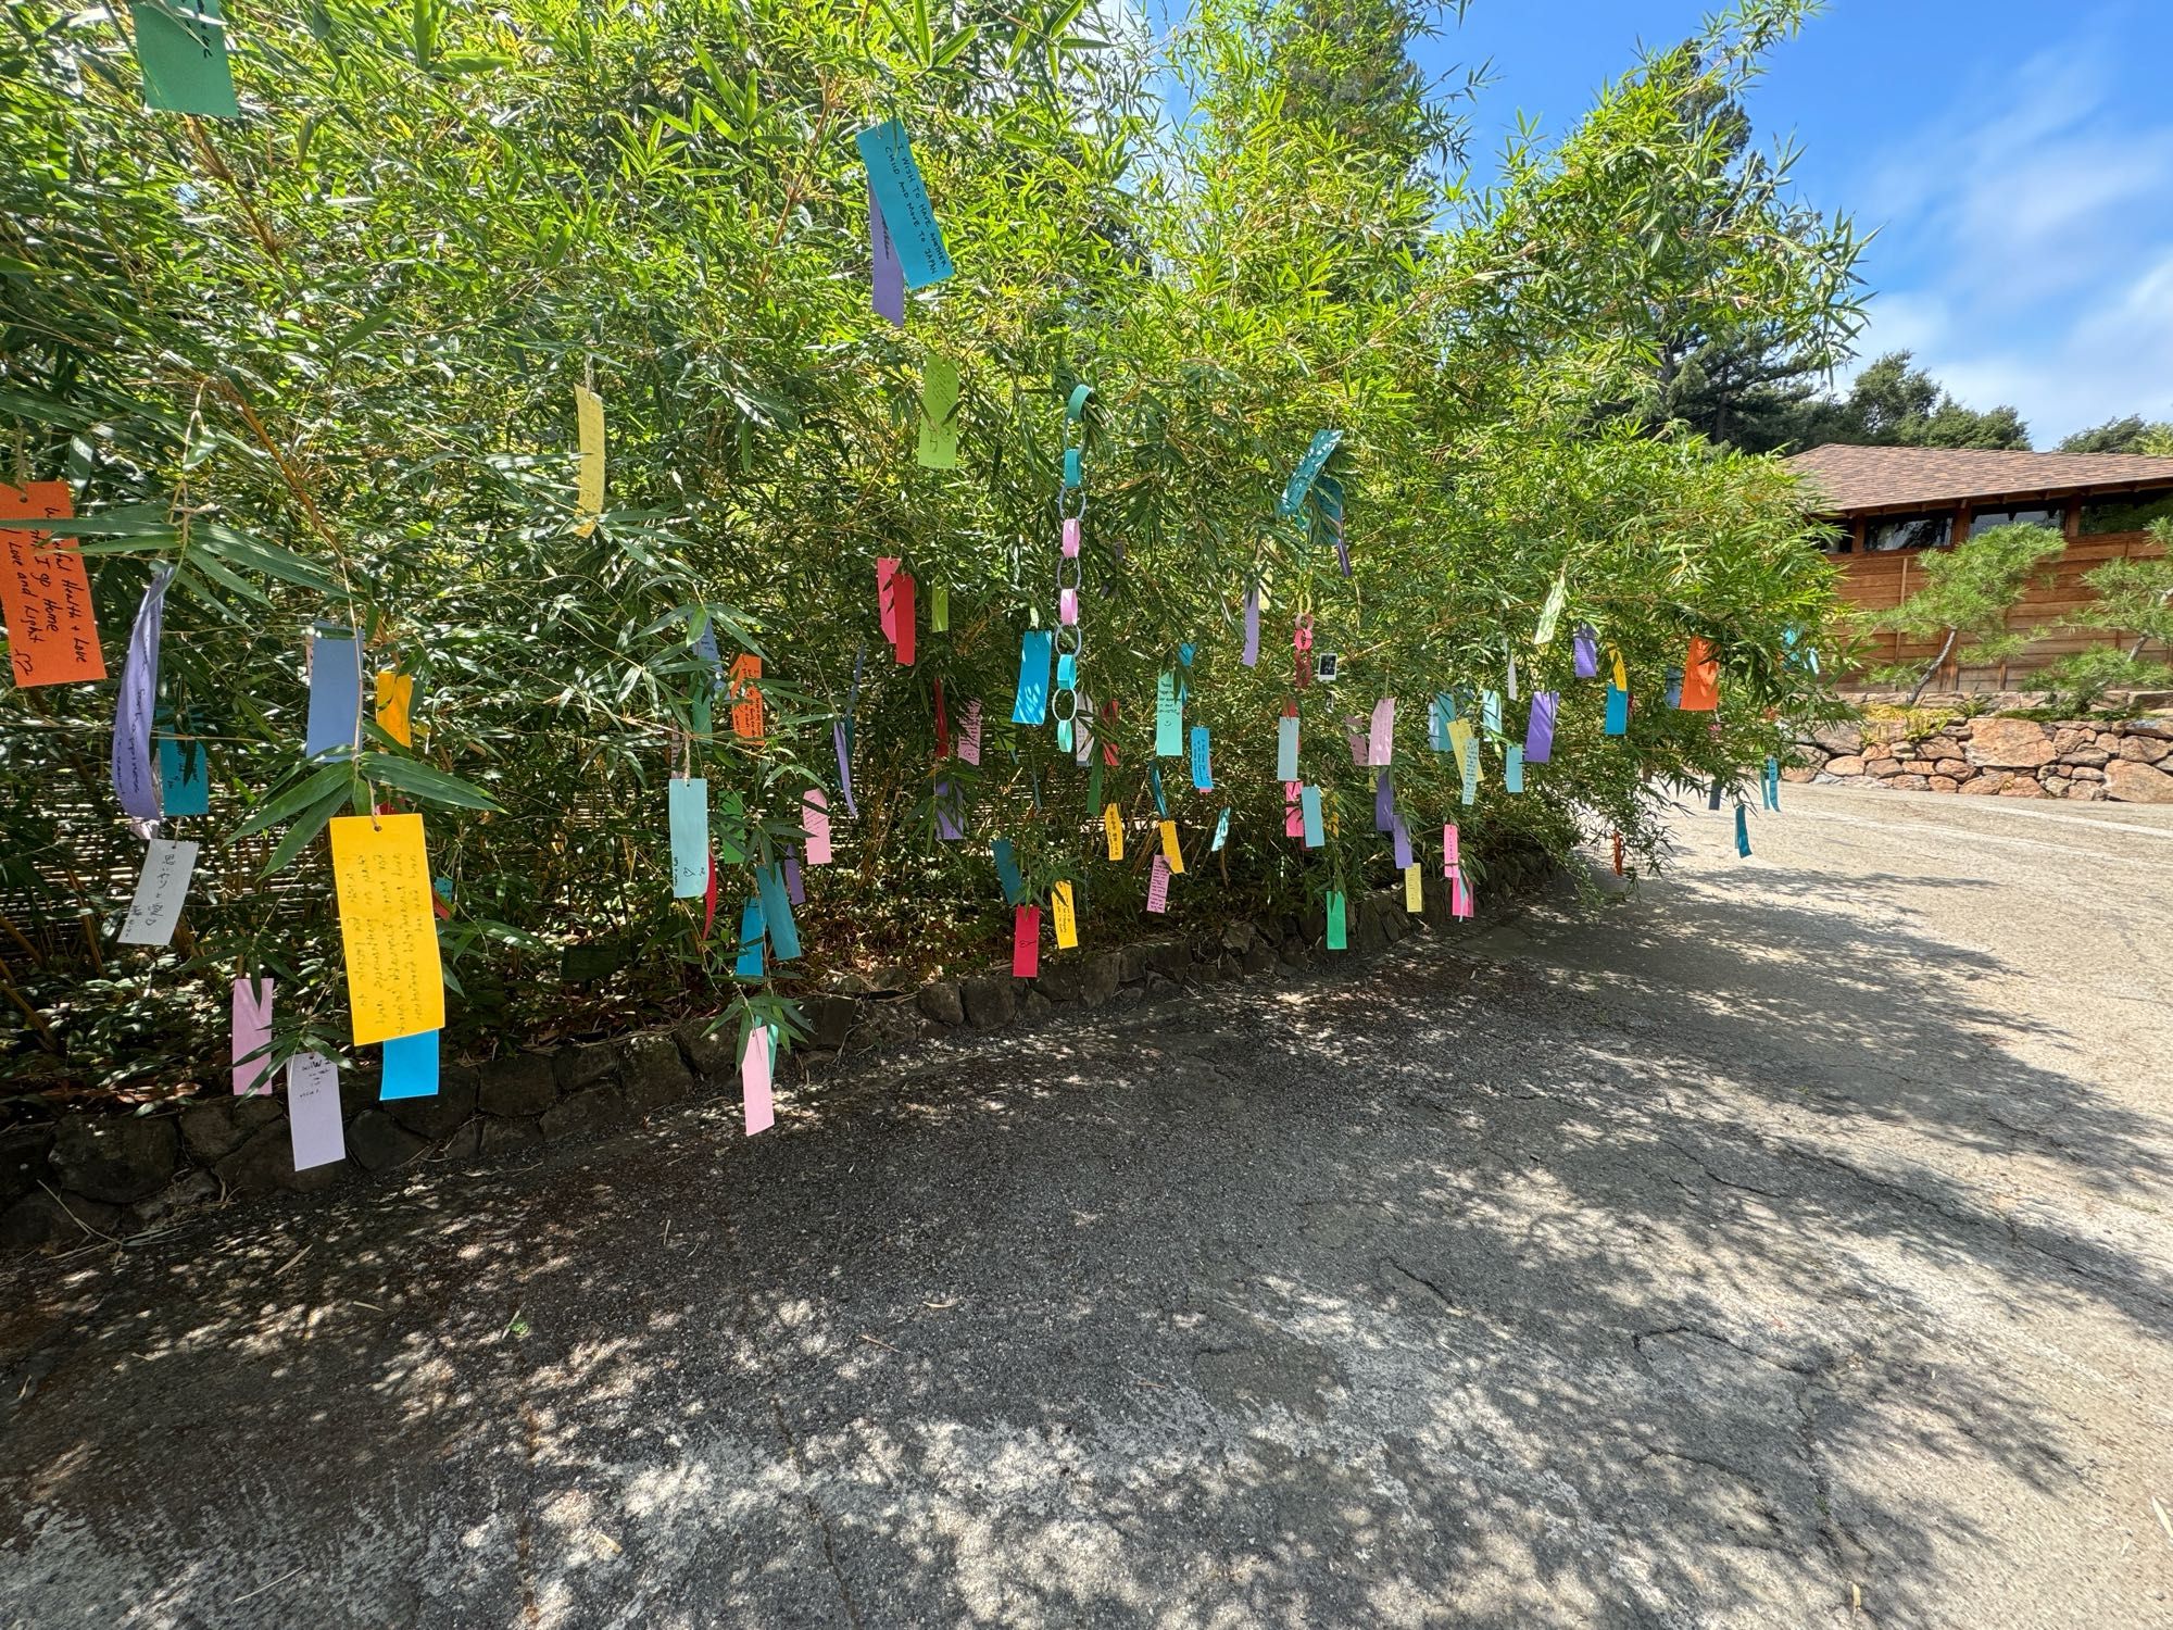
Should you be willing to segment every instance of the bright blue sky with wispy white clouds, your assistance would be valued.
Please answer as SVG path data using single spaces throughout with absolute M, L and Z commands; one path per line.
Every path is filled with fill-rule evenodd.
M 1430 74 L 1493 59 L 1478 152 L 1517 113 L 1560 133 L 1697 0 L 1473 0 Z M 1862 356 L 1912 350 L 2040 448 L 2121 413 L 2173 417 L 2173 4 L 1832 0 L 1749 96 L 1793 137 L 1801 196 L 1880 228 Z

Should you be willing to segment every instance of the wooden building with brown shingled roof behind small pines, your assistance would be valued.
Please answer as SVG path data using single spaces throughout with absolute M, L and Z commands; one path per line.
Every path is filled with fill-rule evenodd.
M 2008 522 L 2067 535 L 2067 552 L 2047 580 L 2008 615 L 2010 628 L 2030 632 L 2030 648 L 1997 669 L 1949 665 L 1934 678 L 1936 689 L 2032 689 L 2036 669 L 2112 641 L 2112 632 L 2080 626 L 2095 598 L 2082 574 L 2103 561 L 2160 554 L 2145 528 L 2158 515 L 2173 515 L 2173 459 L 2125 452 L 1825 446 L 1788 459 L 1788 469 L 1804 478 L 1817 513 L 1841 528 L 1830 546 L 1843 574 L 1841 593 L 1869 611 L 1901 604 L 1925 550 L 1951 548 Z M 1930 663 L 1938 643 L 1880 635 L 1867 665 Z

